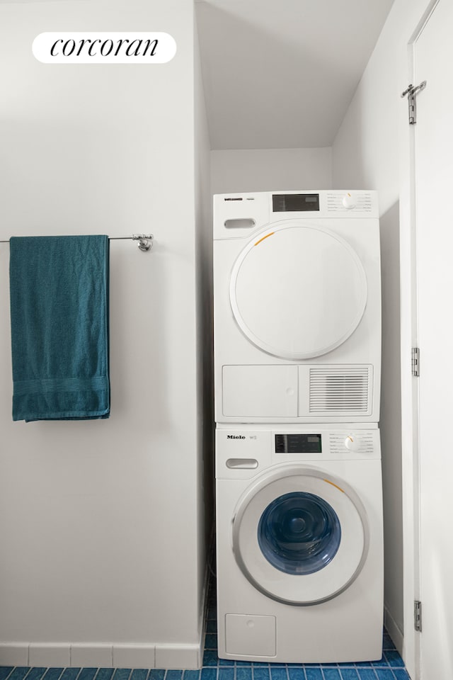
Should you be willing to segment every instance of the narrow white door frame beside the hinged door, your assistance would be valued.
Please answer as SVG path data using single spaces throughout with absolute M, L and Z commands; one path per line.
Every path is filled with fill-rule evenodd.
M 440 0 L 427 3 L 407 44 L 409 83 L 414 86 L 415 42 Z M 428 84 L 429 87 L 429 84 Z M 400 266 L 401 266 L 401 441 L 403 465 L 403 656 L 413 680 L 420 679 L 420 633 L 414 628 L 413 602 L 420 599 L 420 451 L 418 441 L 418 382 L 411 374 L 411 348 L 418 347 L 415 125 L 408 108 L 400 118 Z

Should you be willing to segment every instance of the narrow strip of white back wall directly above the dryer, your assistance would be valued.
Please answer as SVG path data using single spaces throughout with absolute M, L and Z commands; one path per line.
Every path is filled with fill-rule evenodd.
M 331 148 L 212 151 L 212 193 L 330 189 Z

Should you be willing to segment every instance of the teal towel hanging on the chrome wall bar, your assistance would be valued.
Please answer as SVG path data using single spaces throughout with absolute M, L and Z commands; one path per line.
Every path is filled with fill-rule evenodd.
M 108 237 L 11 237 L 10 251 L 13 420 L 108 418 Z

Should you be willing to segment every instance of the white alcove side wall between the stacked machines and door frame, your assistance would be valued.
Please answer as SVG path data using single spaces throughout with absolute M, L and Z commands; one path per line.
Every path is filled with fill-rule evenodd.
M 403 645 L 399 222 L 401 135 L 406 135 L 407 44 L 428 0 L 395 0 L 333 144 L 333 186 L 379 191 L 382 229 L 382 465 L 386 624 Z M 406 119 L 407 120 L 407 119 Z M 404 236 L 404 234 L 403 234 Z M 405 254 L 403 254 L 403 257 Z M 408 256 L 408 254 L 406 254 Z M 410 358 L 407 357 L 407 370 Z M 405 555 L 406 565 L 412 555 Z M 410 567 L 409 567 L 410 569 Z M 406 572 L 407 573 L 407 572 Z M 413 598 L 413 594 L 412 594 Z M 405 608 L 412 606 L 408 601 Z

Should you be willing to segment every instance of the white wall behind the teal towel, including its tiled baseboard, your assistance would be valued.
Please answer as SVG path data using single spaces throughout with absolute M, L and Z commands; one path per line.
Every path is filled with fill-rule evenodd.
M 30 49 L 42 31 L 144 27 L 173 35 L 171 62 L 52 66 Z M 11 421 L 0 246 L 0 664 L 195 667 L 205 550 L 193 6 L 2 2 L 0 31 L 0 239 L 155 236 L 147 254 L 110 244 L 106 421 Z M 69 659 L 73 643 L 87 649 Z

